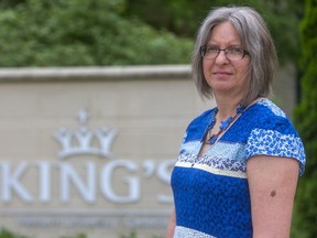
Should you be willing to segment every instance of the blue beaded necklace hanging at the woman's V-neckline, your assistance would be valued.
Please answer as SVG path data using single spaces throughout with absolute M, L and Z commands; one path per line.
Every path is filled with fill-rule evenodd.
M 238 118 L 239 115 L 242 115 L 244 110 L 245 110 L 245 107 L 242 107 L 242 106 L 238 107 L 237 110 L 236 110 L 236 115 L 233 117 L 228 117 L 223 121 L 220 121 L 219 131 L 217 133 L 214 133 L 214 134 L 210 136 L 210 131 L 211 131 L 211 129 L 214 128 L 214 126 L 216 123 L 216 115 L 218 112 L 218 108 L 216 108 L 215 111 L 214 111 L 211 121 L 207 126 L 206 132 L 205 132 L 205 134 L 203 137 L 204 141 L 205 141 L 205 138 L 207 136 L 209 137 L 209 139 L 207 139 L 207 141 L 205 141 L 205 143 L 208 143 L 210 145 L 214 144 L 217 141 L 219 134 L 222 133 L 223 131 L 226 131 L 230 127 L 232 121 L 234 121 Z

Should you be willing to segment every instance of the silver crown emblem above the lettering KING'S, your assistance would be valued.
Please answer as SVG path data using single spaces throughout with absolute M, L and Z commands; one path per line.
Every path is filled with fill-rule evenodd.
M 73 132 L 67 128 L 61 128 L 54 133 L 54 138 L 62 147 L 58 158 L 65 159 L 80 154 L 110 158 L 110 149 L 118 131 L 107 127 L 89 130 L 87 126 L 88 113 L 85 109 L 79 110 L 78 120 L 79 129 L 77 131 Z

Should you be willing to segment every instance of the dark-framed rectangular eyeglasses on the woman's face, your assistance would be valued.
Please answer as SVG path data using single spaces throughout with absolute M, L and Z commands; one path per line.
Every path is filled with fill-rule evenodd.
M 220 51 L 225 52 L 225 55 L 230 61 L 240 61 L 242 60 L 249 52 L 242 47 L 239 46 L 231 46 L 228 48 L 220 48 L 216 45 L 211 46 L 201 46 L 200 47 L 200 54 L 204 58 L 214 60 L 219 54 Z

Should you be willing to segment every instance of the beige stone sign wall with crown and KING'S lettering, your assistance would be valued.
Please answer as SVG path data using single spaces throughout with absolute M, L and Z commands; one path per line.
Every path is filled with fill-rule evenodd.
M 1 69 L 0 227 L 164 237 L 183 133 L 211 106 L 187 65 Z

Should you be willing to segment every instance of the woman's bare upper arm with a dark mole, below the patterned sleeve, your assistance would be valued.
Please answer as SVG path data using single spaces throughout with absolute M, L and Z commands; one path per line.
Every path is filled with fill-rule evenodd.
M 253 156 L 247 162 L 253 238 L 288 238 L 298 162 L 289 158 Z

